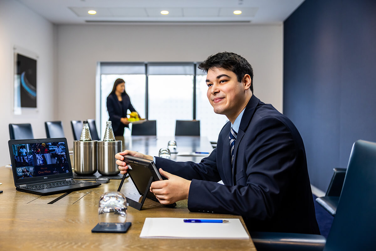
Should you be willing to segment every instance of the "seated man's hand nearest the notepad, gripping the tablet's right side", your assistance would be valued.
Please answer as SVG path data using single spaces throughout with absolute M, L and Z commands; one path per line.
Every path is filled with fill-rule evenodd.
M 159 173 L 168 180 L 154 181 L 150 186 L 150 192 L 154 193 L 161 204 L 172 204 L 182 199 L 188 199 L 190 180 L 165 172 L 159 168 Z

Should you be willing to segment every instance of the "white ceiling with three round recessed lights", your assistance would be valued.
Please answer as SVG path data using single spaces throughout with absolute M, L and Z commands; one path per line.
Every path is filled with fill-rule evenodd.
M 18 0 L 55 24 L 282 23 L 304 0 Z M 97 11 L 96 15 L 88 14 Z M 170 12 L 161 15 L 162 10 Z M 242 14 L 235 15 L 233 11 Z

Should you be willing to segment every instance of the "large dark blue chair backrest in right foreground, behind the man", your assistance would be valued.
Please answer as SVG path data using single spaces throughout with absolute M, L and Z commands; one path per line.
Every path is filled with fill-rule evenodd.
M 324 251 L 374 250 L 376 143 L 354 143 Z

